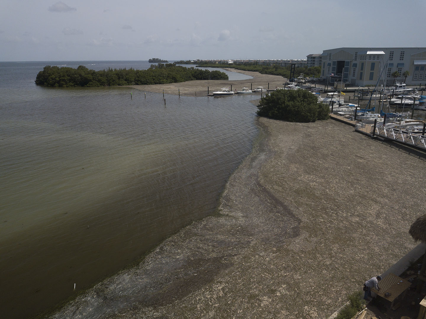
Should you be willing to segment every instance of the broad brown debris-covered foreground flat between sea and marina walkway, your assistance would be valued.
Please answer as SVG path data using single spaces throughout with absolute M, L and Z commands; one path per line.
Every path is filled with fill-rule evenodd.
M 415 247 L 424 152 L 333 120 L 257 121 L 217 215 L 49 318 L 324 319 Z

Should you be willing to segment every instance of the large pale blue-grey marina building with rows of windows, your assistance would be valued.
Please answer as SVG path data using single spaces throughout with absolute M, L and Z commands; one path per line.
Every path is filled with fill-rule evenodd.
M 321 77 L 330 82 L 343 77 L 344 83 L 366 86 L 380 78 L 379 85 L 383 80 L 392 85 L 397 71 L 398 82 L 426 83 L 426 48 L 337 48 L 324 50 L 321 58 Z M 406 71 L 410 75 L 405 79 Z

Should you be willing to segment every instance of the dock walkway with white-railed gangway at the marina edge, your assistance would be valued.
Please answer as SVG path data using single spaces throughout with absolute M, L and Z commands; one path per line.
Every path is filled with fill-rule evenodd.
M 376 126 L 374 130 L 374 124 L 365 124 L 359 121 L 350 120 L 344 116 L 330 114 L 330 118 L 343 122 L 345 124 L 355 127 L 355 131 L 363 133 L 373 138 L 383 138 L 386 140 L 397 141 L 398 143 L 406 144 L 412 147 L 426 150 L 426 136 L 402 131 L 386 126 Z

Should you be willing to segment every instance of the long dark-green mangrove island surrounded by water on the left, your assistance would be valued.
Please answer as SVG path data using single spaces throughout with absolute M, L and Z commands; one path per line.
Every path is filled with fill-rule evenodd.
M 85 66 L 77 69 L 45 66 L 35 79 L 42 86 L 123 86 L 178 83 L 190 80 L 228 80 L 224 72 L 208 71 L 176 66 L 173 63 L 152 64 L 147 70 L 108 69 L 89 70 Z

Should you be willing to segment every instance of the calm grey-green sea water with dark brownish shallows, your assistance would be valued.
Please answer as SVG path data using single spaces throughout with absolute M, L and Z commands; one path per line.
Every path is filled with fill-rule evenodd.
M 214 213 L 257 134 L 247 95 L 167 96 L 164 105 L 162 94 L 128 88 L 35 86 L 46 65 L 150 63 L 0 62 L 5 318 L 55 305 Z

